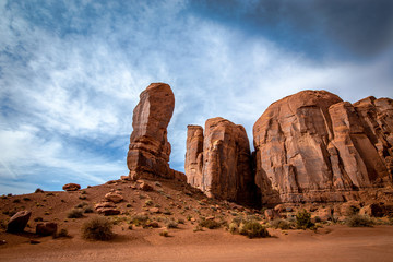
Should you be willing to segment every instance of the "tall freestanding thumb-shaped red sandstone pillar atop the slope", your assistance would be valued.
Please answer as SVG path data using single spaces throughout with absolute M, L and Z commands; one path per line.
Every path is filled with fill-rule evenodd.
M 131 179 L 178 178 L 183 174 L 169 168 L 170 144 L 167 127 L 175 108 L 175 96 L 169 85 L 154 83 L 140 95 L 133 110 L 133 132 L 127 155 Z

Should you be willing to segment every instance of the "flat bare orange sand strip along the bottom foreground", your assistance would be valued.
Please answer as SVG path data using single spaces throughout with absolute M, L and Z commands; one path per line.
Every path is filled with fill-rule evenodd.
M 159 229 L 147 230 L 136 228 L 128 235 L 118 231 L 110 242 L 47 237 L 39 245 L 27 240 L 3 245 L 0 261 L 393 261 L 392 226 L 327 226 L 318 233 L 288 230 L 287 235 L 270 229 L 273 237 L 265 239 L 234 236 L 224 229 L 171 229 L 168 238 L 158 236 Z M 0 237 L 9 237 L 11 242 L 26 238 Z

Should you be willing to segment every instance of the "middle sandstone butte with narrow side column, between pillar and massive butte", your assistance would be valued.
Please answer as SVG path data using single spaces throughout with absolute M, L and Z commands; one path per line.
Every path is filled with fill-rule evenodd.
M 188 182 L 216 199 L 252 204 L 254 181 L 249 140 L 243 127 L 223 118 L 188 127 L 186 176 Z

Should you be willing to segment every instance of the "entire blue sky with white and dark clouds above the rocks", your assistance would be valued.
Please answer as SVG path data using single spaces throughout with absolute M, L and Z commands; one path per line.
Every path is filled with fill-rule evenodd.
M 0 193 L 127 175 L 132 110 L 153 82 L 187 124 L 252 126 L 301 90 L 393 97 L 392 1 L 0 0 Z

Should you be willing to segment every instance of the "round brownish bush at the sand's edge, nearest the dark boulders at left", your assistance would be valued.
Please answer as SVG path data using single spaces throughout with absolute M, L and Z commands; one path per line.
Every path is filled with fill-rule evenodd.
M 112 224 L 105 217 L 93 217 L 82 225 L 84 239 L 106 241 L 112 239 L 114 236 Z

